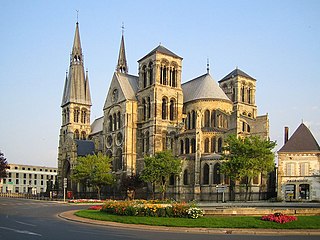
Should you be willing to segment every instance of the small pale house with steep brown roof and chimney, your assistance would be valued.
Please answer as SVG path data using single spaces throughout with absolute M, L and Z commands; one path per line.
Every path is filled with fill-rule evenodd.
M 278 198 L 320 201 L 320 147 L 303 123 L 278 151 Z

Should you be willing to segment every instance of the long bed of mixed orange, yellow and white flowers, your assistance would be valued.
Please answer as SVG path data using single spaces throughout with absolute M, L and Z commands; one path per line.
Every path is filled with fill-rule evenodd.
M 121 216 L 198 218 L 203 216 L 200 208 L 187 203 L 158 203 L 139 201 L 107 201 L 101 211 Z

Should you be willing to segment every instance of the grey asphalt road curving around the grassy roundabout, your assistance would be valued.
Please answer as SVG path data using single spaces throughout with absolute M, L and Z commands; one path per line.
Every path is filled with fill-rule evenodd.
M 319 236 L 257 236 L 175 233 L 133 230 L 83 224 L 61 219 L 57 214 L 87 208 L 60 202 L 0 197 L 1 240 L 286 240 L 319 239 Z

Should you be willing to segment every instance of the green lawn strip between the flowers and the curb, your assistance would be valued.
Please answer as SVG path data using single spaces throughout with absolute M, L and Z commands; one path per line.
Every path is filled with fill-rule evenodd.
M 279 224 L 260 220 L 260 217 L 221 216 L 189 218 L 161 218 L 116 216 L 98 210 L 80 210 L 75 215 L 102 221 L 131 224 L 145 224 L 168 227 L 200 227 L 200 228 L 273 228 L 273 229 L 320 229 L 320 216 L 298 216 L 297 221 Z

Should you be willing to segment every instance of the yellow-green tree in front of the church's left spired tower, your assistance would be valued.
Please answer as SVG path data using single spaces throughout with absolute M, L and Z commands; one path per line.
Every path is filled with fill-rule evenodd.
M 78 157 L 71 178 L 84 186 L 95 188 L 100 199 L 101 188 L 113 182 L 110 162 L 111 159 L 101 153 Z

